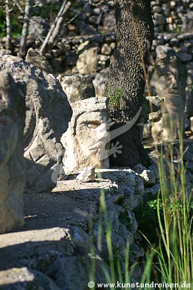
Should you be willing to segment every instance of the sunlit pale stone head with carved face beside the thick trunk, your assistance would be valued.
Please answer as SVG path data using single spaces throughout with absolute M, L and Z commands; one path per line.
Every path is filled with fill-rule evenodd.
M 65 173 L 90 165 L 95 168 L 108 168 L 108 99 L 85 99 L 73 103 L 72 109 L 69 128 L 61 138 L 61 143 L 66 149 L 63 157 Z

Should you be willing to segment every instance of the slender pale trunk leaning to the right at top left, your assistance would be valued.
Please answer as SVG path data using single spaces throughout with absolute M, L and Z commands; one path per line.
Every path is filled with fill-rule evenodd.
M 56 19 L 54 23 L 51 25 L 50 30 L 40 48 L 41 54 L 44 54 L 47 51 L 48 47 L 54 43 L 55 39 L 57 38 L 60 32 L 62 23 L 65 19 L 65 14 L 69 10 L 71 5 L 72 5 L 72 1 L 71 2 L 70 1 L 67 2 L 66 0 L 63 1 L 61 8 L 56 16 Z

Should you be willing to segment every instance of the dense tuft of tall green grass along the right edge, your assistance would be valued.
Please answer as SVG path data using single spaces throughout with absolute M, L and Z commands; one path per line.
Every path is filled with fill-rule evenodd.
M 166 124 L 167 126 L 167 124 Z M 182 128 L 178 124 L 178 127 Z M 172 121 L 170 131 L 173 131 Z M 150 244 L 154 259 L 151 263 L 152 277 L 156 282 L 163 281 L 169 284 L 184 282 L 193 287 L 193 231 L 192 231 L 192 196 L 186 181 L 186 164 L 183 161 L 183 134 L 178 129 L 180 162 L 174 160 L 174 146 L 168 143 L 165 149 L 165 160 L 169 174 L 164 166 L 164 152 L 156 151 L 159 155 L 158 170 L 161 193 L 162 209 L 157 202 L 157 219 L 159 223 L 159 244 L 154 248 Z M 163 217 L 160 211 L 163 211 Z M 147 262 L 148 263 L 148 262 Z M 189 288 L 191 288 L 189 287 Z M 171 286 L 172 288 L 172 286 Z M 176 287 L 178 288 L 178 287 Z M 163 288 L 164 289 L 164 288 Z

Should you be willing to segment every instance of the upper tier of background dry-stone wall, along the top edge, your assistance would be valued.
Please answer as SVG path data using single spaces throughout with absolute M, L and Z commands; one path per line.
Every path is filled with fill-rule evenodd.
M 60 2 L 58 1 L 58 3 Z M 84 5 L 84 8 L 78 17 L 62 30 L 63 35 L 78 36 L 115 31 L 113 1 L 91 0 L 88 4 L 86 0 L 79 0 L 79 5 Z M 151 7 L 155 32 L 182 32 L 185 29 L 184 22 L 186 22 L 186 18 L 189 18 L 187 13 L 191 15 L 191 11 L 193 11 L 193 1 L 155 0 L 151 1 Z M 37 28 L 43 30 L 41 35 L 44 36 L 48 30 L 49 20 L 44 19 L 41 23 L 40 11 L 37 7 L 34 9 L 33 15 L 31 36 L 36 35 Z

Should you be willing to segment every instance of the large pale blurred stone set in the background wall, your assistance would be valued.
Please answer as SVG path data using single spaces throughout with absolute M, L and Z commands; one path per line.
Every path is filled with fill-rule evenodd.
M 98 65 L 98 48 L 90 47 L 79 54 L 77 69 L 81 74 L 95 74 Z

